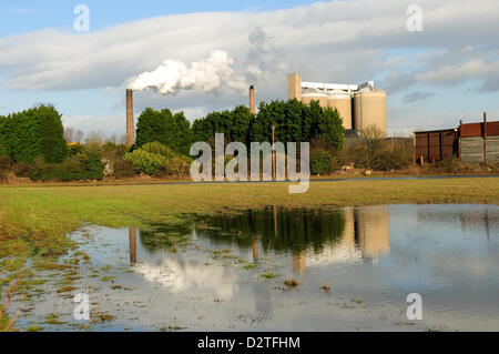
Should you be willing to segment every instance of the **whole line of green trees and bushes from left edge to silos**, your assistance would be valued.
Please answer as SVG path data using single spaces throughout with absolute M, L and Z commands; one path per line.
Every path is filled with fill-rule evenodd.
M 145 109 L 139 117 L 136 143 L 130 151 L 120 144 L 101 141 L 69 148 L 64 139 L 61 114 L 52 105 L 39 105 L 0 117 L 0 156 L 2 170 L 32 180 L 99 180 L 104 168 L 113 168 L 116 178 L 143 172 L 163 176 L 185 174 L 191 145 L 212 142 L 215 133 L 224 133 L 227 142 L 272 141 L 283 143 L 319 140 L 334 150 L 344 144 L 343 122 L 336 110 L 323 109 L 317 102 L 306 105 L 296 100 L 262 103 L 258 114 L 240 105 L 233 110 L 212 112 L 192 125 L 183 112 Z M 80 132 L 65 136 L 79 140 Z M 324 164 L 324 161 L 322 161 Z

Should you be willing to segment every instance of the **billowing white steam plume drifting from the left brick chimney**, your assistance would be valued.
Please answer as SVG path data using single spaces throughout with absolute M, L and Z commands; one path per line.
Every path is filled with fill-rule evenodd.
M 248 84 L 244 77 L 234 73 L 232 59 L 227 52 L 215 50 L 190 68 L 181 61 L 165 60 L 157 69 L 132 79 L 129 89 L 142 91 L 154 89 L 162 94 L 175 94 L 180 90 L 215 91 L 222 87 L 245 92 Z

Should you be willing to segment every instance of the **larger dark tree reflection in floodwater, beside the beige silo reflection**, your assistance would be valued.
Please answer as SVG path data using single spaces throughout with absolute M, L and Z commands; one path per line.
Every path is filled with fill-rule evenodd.
M 196 226 L 200 236 L 213 241 L 252 247 L 253 237 L 248 235 L 258 235 L 265 249 L 293 252 L 302 252 L 309 246 L 320 251 L 325 243 L 340 240 L 344 230 L 345 216 L 342 210 L 287 208 L 277 208 L 275 213 L 273 208 L 267 208 L 248 210 L 237 215 L 218 214 L 204 219 Z

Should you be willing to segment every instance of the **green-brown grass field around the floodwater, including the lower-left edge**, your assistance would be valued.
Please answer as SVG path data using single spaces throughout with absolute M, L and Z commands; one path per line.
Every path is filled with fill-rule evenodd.
M 16 293 L 29 300 L 37 295 L 33 286 L 45 281 L 40 279 L 38 271 L 54 271 L 52 277 L 59 279 L 58 286 L 71 289 L 79 260 L 74 259 L 74 264 L 60 263 L 59 257 L 69 251 L 74 256 L 79 253 L 65 234 L 84 224 L 146 226 L 149 223 L 181 222 L 185 214 L 265 205 L 403 203 L 499 204 L 499 176 L 323 181 L 312 182 L 305 194 L 289 194 L 288 183 L 2 185 L 0 271 L 7 275 L 0 282 L 0 290 L 22 280 Z M 1 331 L 9 318 L 0 317 Z

